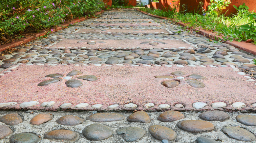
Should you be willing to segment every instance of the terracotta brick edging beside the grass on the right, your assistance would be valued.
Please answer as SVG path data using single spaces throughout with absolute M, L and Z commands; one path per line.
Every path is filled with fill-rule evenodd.
M 146 15 L 149 15 L 149 16 L 152 16 L 152 17 L 155 17 L 155 18 L 160 18 L 160 19 L 167 19 L 169 20 L 169 18 L 167 17 L 162 17 L 162 16 L 158 16 L 158 15 L 153 15 L 153 14 L 150 14 L 150 13 L 147 13 L 147 12 L 144 12 L 144 11 L 141 11 L 139 9 L 136 9 L 137 11 L 143 13 L 143 14 L 146 14 Z M 178 25 L 181 25 L 182 27 L 184 27 L 185 25 L 187 24 L 184 24 L 182 22 L 178 22 L 177 23 Z M 193 30 L 197 31 L 198 34 L 201 34 L 201 35 L 204 35 L 206 36 L 207 38 L 210 38 L 210 39 L 213 39 L 215 40 L 215 38 L 221 38 L 222 39 L 222 36 L 219 36 L 216 34 L 216 32 L 212 32 L 210 30 L 205 30 L 205 29 L 199 29 L 199 28 L 194 28 Z M 245 41 L 241 41 L 241 42 L 237 42 L 237 41 L 226 41 L 227 44 L 231 45 L 231 46 L 234 46 L 238 49 L 241 49 L 245 52 L 248 52 L 248 53 L 251 53 L 253 55 L 256 55 L 256 46 L 253 44 L 253 43 L 246 43 Z

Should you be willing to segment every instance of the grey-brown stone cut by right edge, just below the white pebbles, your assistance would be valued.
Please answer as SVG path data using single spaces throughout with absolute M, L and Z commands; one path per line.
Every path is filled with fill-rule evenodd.
M 246 126 L 256 126 L 256 117 L 251 115 L 238 115 L 236 120 Z

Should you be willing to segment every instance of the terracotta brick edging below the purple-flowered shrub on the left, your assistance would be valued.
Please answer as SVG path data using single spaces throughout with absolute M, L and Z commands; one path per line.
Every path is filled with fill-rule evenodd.
M 97 16 L 97 15 L 100 15 L 100 14 L 103 13 L 103 11 L 104 11 L 104 10 L 101 10 L 101 11 L 97 12 L 95 15 L 96 15 L 96 16 Z M 88 16 L 86 16 L 86 17 L 80 17 L 80 18 L 76 17 L 74 20 L 72 20 L 72 21 L 70 21 L 70 22 L 61 24 L 61 26 L 58 26 L 57 28 L 53 28 L 53 31 L 56 32 L 56 31 L 58 31 L 58 30 L 65 29 L 65 26 L 69 26 L 69 24 L 74 24 L 74 23 L 76 23 L 76 22 L 81 22 L 81 21 L 84 21 L 84 20 L 86 20 L 86 19 L 88 19 Z M 28 38 L 23 38 L 23 39 L 21 39 L 21 40 L 15 40 L 15 41 L 13 41 L 13 42 L 11 42 L 11 43 L 0 45 L 0 52 L 4 51 L 4 50 L 6 50 L 6 49 L 9 49 L 9 48 L 16 47 L 16 46 L 18 46 L 18 45 L 20 45 L 20 44 L 23 44 L 23 43 L 27 43 L 27 42 L 29 42 L 29 41 L 32 41 L 32 40 L 36 39 L 37 37 L 40 37 L 40 36 L 45 35 L 48 31 L 50 31 L 50 29 L 49 29 L 49 30 L 42 30 L 42 31 L 40 31 L 39 33 L 36 33 L 36 34 L 34 34 L 33 36 L 28 37 Z

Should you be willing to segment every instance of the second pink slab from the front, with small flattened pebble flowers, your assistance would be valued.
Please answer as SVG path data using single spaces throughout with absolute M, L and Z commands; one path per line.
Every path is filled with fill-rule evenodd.
M 88 41 L 96 41 L 95 45 L 89 45 L 87 44 Z M 106 43 L 100 43 L 97 41 L 103 41 Z M 140 44 L 141 42 L 144 41 L 161 41 L 161 42 L 165 42 L 167 44 L 162 44 L 159 43 L 157 46 L 153 46 L 153 45 L 149 45 L 149 44 Z M 132 45 L 131 45 L 132 43 Z M 64 49 L 64 48 L 68 48 L 71 47 L 78 47 L 78 48 L 82 48 L 82 47 L 86 47 L 86 48 L 82 48 L 82 49 L 109 49 L 110 47 L 113 48 L 118 48 L 120 47 L 121 49 L 123 48 L 127 48 L 131 49 L 132 47 L 140 47 L 141 49 L 147 50 L 147 49 L 151 49 L 151 48 L 178 48 L 178 47 L 191 47 L 191 45 L 181 41 L 181 40 L 79 40 L 79 39 L 63 39 L 62 41 L 60 41 L 59 43 L 57 43 L 56 45 L 53 45 L 54 47 L 57 47 L 57 49 Z M 49 47 L 50 48 L 50 47 Z

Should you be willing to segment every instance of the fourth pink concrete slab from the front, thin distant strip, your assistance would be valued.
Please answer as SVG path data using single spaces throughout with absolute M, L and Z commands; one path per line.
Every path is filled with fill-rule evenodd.
M 89 26 L 161 26 L 159 23 L 113 23 L 113 24 L 87 24 Z

